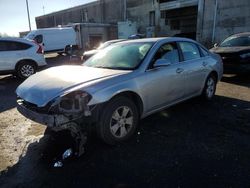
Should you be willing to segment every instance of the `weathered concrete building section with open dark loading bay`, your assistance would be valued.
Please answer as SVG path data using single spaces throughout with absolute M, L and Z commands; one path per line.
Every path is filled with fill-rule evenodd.
M 207 47 L 250 31 L 249 0 L 127 0 L 127 19 L 147 36 L 184 36 Z

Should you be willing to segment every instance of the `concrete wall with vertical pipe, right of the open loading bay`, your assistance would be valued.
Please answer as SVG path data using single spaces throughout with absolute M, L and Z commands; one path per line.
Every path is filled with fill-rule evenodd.
M 234 33 L 250 31 L 249 0 L 200 0 L 198 41 L 211 46 Z

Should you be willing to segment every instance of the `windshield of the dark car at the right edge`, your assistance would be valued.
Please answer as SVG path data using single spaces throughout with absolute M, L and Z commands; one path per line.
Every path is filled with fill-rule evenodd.
M 220 47 L 236 47 L 236 46 L 250 46 L 250 36 L 231 36 L 226 38 Z

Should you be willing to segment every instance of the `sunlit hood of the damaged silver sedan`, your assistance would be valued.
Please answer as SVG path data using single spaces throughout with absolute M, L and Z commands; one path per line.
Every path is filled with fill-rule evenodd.
M 75 87 L 81 88 L 81 85 L 84 87 L 129 72 L 87 66 L 53 67 L 29 77 L 17 88 L 16 93 L 25 101 L 43 107 L 55 97 L 74 90 Z

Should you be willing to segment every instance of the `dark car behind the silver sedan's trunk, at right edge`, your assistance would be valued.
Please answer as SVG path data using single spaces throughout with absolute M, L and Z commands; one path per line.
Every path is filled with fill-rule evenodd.
M 221 56 L 225 71 L 250 71 L 250 32 L 231 35 L 210 51 Z

